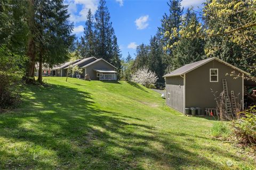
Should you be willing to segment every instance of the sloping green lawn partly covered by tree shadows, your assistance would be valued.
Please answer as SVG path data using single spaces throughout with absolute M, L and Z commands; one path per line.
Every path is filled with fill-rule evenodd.
M 50 86 L 22 87 L 22 105 L 0 114 L 0 169 L 255 167 L 211 137 L 214 120 L 183 116 L 153 90 L 124 81 L 44 80 Z

